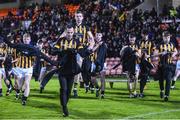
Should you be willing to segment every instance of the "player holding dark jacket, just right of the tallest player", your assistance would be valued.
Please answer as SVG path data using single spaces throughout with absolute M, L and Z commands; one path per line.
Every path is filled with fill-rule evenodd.
M 99 91 L 101 90 L 101 98 L 104 98 L 105 92 L 105 59 L 106 59 L 106 51 L 107 45 L 102 39 L 102 33 L 97 32 L 95 37 L 96 46 L 93 49 L 93 53 L 91 54 L 91 81 L 96 87 L 96 97 L 99 96 Z M 100 76 L 101 80 L 101 88 L 99 89 L 98 81 L 96 79 L 97 76 Z

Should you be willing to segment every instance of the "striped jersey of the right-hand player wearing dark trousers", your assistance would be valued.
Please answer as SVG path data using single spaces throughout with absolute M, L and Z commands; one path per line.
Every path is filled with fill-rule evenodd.
M 172 54 L 176 52 L 177 49 L 172 43 L 162 43 L 158 46 L 159 53 L 166 52 L 166 54 L 160 56 L 161 64 L 171 64 L 172 63 Z

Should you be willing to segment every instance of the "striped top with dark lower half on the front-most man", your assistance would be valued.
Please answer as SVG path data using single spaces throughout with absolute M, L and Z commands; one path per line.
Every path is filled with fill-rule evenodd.
M 80 51 L 85 52 L 86 50 L 84 50 L 84 48 L 81 49 L 80 42 L 78 40 L 75 38 L 72 40 L 61 38 L 54 47 L 54 54 L 58 55 L 59 66 L 61 66 L 61 74 L 74 75 L 80 72 L 76 53 L 78 52 L 80 54 Z M 86 54 L 86 52 L 84 54 Z

